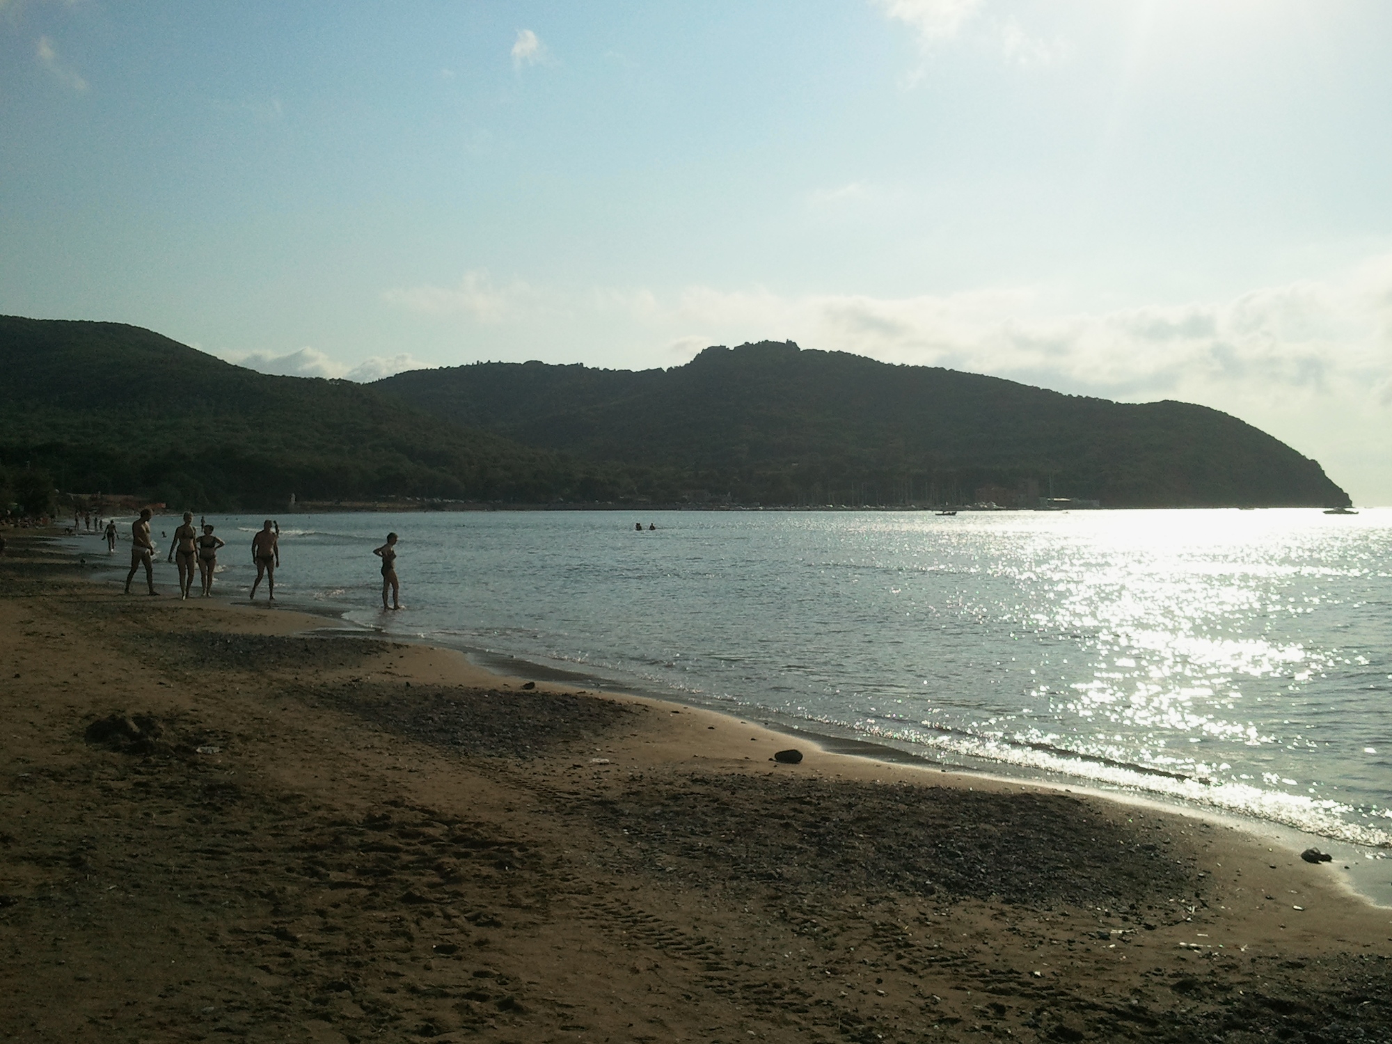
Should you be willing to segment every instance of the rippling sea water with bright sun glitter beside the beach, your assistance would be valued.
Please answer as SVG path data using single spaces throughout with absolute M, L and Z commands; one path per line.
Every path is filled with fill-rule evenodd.
M 209 521 L 231 544 L 220 593 L 245 599 L 260 518 Z M 287 606 L 944 764 L 1392 844 L 1392 509 L 278 523 Z M 372 554 L 388 529 L 400 612 Z

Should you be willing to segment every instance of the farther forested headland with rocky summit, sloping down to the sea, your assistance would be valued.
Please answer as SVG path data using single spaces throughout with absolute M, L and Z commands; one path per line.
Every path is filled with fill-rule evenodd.
M 1339 505 L 1315 461 L 1185 402 L 1119 404 L 760 342 L 668 370 L 476 363 L 372 387 L 459 425 L 661 475 L 664 500 Z M 675 483 L 672 486 L 672 483 Z

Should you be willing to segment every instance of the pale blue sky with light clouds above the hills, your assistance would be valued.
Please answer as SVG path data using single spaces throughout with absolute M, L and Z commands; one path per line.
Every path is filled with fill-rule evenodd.
M 0 0 L 0 313 L 266 372 L 793 340 L 1392 504 L 1386 0 Z

